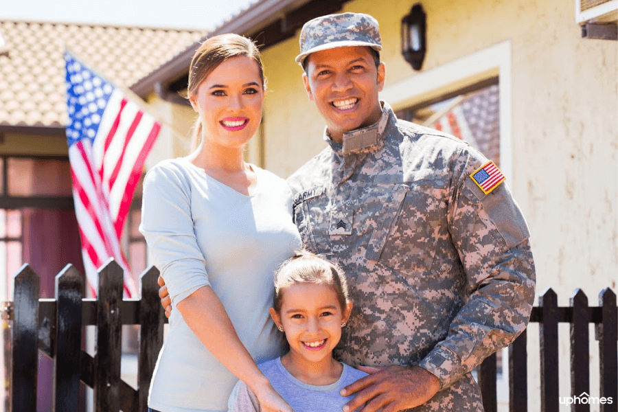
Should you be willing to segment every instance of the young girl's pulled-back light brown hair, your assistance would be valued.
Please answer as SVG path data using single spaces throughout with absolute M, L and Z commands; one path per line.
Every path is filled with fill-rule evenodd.
M 275 301 L 273 308 L 277 313 L 282 306 L 282 292 L 287 286 L 297 283 L 328 284 L 337 294 L 341 310 L 350 303 L 347 280 L 343 269 L 324 258 L 308 251 L 297 251 L 293 258 L 286 260 L 275 273 Z

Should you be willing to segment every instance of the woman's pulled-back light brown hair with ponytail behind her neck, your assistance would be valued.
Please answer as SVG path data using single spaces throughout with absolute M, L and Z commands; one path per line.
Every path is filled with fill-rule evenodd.
M 249 38 L 239 36 L 238 34 L 228 33 L 220 34 L 207 39 L 196 50 L 191 60 L 189 68 L 189 86 L 187 87 L 187 95 L 189 98 L 196 96 L 198 87 L 201 82 L 208 77 L 214 69 L 222 62 L 236 56 L 247 56 L 258 63 L 260 71 L 260 80 L 262 80 L 262 88 L 266 89 L 266 79 L 264 78 L 264 66 L 262 65 L 262 56 L 260 50 Z M 199 139 L 202 134 L 201 119 L 198 117 L 193 126 L 191 137 L 192 149 L 197 148 Z

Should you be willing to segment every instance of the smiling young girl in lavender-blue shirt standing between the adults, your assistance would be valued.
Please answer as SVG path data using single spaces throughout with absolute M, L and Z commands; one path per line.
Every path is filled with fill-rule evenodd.
M 352 396 L 344 398 L 339 391 L 367 376 L 332 358 L 351 311 L 339 266 L 301 251 L 276 273 L 270 312 L 290 350 L 262 363 L 260 369 L 296 412 L 341 411 Z M 257 411 L 264 408 L 251 388 L 239 381 L 229 398 L 228 412 Z

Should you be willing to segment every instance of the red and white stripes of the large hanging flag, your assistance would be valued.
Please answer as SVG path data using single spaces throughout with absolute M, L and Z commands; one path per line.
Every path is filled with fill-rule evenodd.
M 84 268 L 93 292 L 97 269 L 115 258 L 124 269 L 126 295 L 137 293 L 120 239 L 144 161 L 160 129 L 152 116 L 115 90 L 93 145 L 84 139 L 69 148 Z

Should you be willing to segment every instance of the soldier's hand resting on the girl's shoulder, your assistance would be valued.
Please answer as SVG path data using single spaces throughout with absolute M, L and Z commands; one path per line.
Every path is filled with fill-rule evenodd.
M 397 412 L 424 404 L 439 391 L 440 382 L 422 367 L 358 367 L 369 376 L 341 390 L 341 396 L 356 396 L 343 407 L 344 412 Z M 365 407 L 363 407 L 363 404 Z M 363 407 L 362 409 L 360 409 Z

